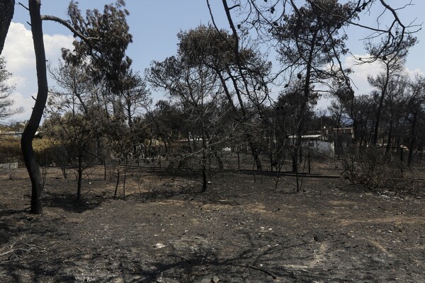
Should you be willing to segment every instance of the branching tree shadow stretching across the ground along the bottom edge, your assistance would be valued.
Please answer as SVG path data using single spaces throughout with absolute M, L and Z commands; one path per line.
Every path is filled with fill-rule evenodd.
M 92 255 L 89 259 L 86 253 L 73 253 L 66 255 L 67 259 L 72 260 L 65 263 L 65 255 L 60 255 L 55 250 L 49 250 L 55 256 L 48 260 L 43 260 L 43 255 L 35 250 L 23 257 L 23 260 L 17 258 L 8 262 L 0 261 L 0 268 L 14 282 L 199 283 L 201 279 L 210 279 L 214 275 L 221 282 L 369 282 L 363 276 L 352 280 L 344 279 L 338 276 L 339 273 L 335 274 L 332 267 L 299 269 L 285 265 L 291 260 L 306 262 L 312 258 L 312 254 L 308 252 L 298 258 L 293 258 L 290 254 L 294 248 L 308 250 L 309 243 L 305 239 L 288 238 L 285 245 L 260 251 L 256 238 L 249 238 L 251 243 L 232 255 L 210 247 L 201 248 L 196 253 L 173 248 L 172 253 L 157 257 L 152 252 L 142 251 L 140 256 L 129 258 L 128 253 L 123 251 L 108 258 L 101 254 L 102 250 L 96 252 L 94 249 L 89 251 Z M 367 263 L 363 267 L 364 270 L 370 268 Z

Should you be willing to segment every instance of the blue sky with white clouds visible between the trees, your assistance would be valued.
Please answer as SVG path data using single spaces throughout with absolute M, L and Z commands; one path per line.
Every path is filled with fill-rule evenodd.
M 81 11 L 85 11 L 87 8 L 103 9 L 103 5 L 110 2 L 80 0 L 79 6 Z M 130 11 L 128 24 L 134 40 L 128 49 L 128 55 L 133 60 L 132 68 L 142 74 L 152 60 L 161 61 L 176 53 L 176 34 L 180 30 L 196 28 L 200 24 L 208 24 L 211 21 L 205 0 L 127 0 L 126 2 L 126 8 Z M 227 28 L 228 23 L 225 20 L 221 1 L 211 0 L 210 2 L 217 24 L 220 28 Z M 387 2 L 392 5 L 403 6 L 409 3 L 409 0 L 387 0 Z M 23 3 L 26 3 L 26 1 L 23 1 Z M 418 24 L 424 22 L 425 1 L 412 0 L 412 4 L 414 6 L 408 6 L 405 11 L 400 13 L 401 18 L 407 22 L 416 18 Z M 68 1 L 42 0 L 42 13 L 67 18 L 67 6 Z M 376 16 L 380 11 L 372 11 L 370 15 L 365 15 L 362 23 L 375 23 Z M 382 23 L 385 23 L 385 17 L 385 15 L 382 16 Z M 16 85 L 16 91 L 13 93 L 16 105 L 23 106 L 26 109 L 26 112 L 12 117 L 12 120 L 28 119 L 30 108 L 33 105 L 30 96 L 35 95 L 37 89 L 30 27 L 26 23 L 27 21 L 29 21 L 28 11 L 17 4 L 13 25 L 9 29 L 4 52 L 1 54 L 6 58 L 8 70 L 13 73 L 13 78 L 9 83 Z M 60 47 L 71 46 L 71 33 L 62 25 L 52 22 L 43 23 L 43 29 L 47 58 L 51 64 L 55 64 L 60 57 Z M 350 37 L 348 46 L 352 52 L 364 54 L 363 42 L 360 39 L 368 33 L 358 28 L 348 30 L 348 32 Z M 419 44 L 412 48 L 406 66 L 411 74 L 421 73 L 425 69 L 425 55 L 422 54 L 425 44 L 424 30 L 416 33 L 416 37 L 419 39 Z M 274 58 L 270 59 L 273 62 Z M 347 66 L 352 64 L 350 57 L 347 57 L 345 61 Z M 273 64 L 277 63 L 273 62 Z M 361 66 L 356 67 L 355 71 L 353 79 L 359 88 L 358 93 L 368 92 L 365 78 L 368 74 L 377 74 L 379 67 Z M 50 85 L 52 83 L 50 81 Z M 157 98 L 161 95 L 161 93 L 156 93 Z M 326 107 L 326 103 L 322 102 L 322 106 Z

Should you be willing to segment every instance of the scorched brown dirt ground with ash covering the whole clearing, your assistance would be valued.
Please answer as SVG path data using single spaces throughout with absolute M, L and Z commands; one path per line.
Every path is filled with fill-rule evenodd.
M 425 282 L 425 196 L 335 178 L 101 173 L 76 197 L 47 170 L 29 214 L 25 169 L 0 172 L 0 282 Z

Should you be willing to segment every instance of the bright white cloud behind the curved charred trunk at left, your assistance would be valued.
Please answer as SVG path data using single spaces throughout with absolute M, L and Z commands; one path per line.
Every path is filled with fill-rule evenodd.
M 46 59 L 53 66 L 61 57 L 61 48 L 72 48 L 74 38 L 67 35 L 44 35 Z M 37 75 L 35 72 L 35 54 L 33 35 L 22 23 L 11 23 L 1 56 L 6 59 L 6 69 L 12 73 L 8 85 L 15 85 L 12 94 L 15 107 L 23 107 L 24 112 L 11 117 L 11 120 L 28 120 L 37 94 Z M 52 81 L 49 81 L 52 85 Z

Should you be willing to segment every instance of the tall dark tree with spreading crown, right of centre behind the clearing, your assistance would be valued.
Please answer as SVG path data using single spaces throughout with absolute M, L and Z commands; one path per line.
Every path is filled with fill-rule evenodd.
M 297 73 L 298 80 L 302 80 L 300 91 L 303 98 L 295 130 L 293 171 L 297 171 L 297 153 L 305 132 L 307 105 L 315 98 L 310 94 L 312 84 L 329 85 L 330 79 L 349 73 L 349 70 L 342 69 L 340 61 L 340 56 L 347 52 L 347 36 L 344 33 L 339 35 L 339 31 L 347 25 L 346 19 L 355 15 L 348 6 L 336 0 L 320 0 L 307 2 L 292 14 L 285 15 L 282 23 L 275 22 L 273 34 L 280 45 L 280 61 L 291 69 L 291 73 Z M 350 88 L 346 76 L 342 78 Z

